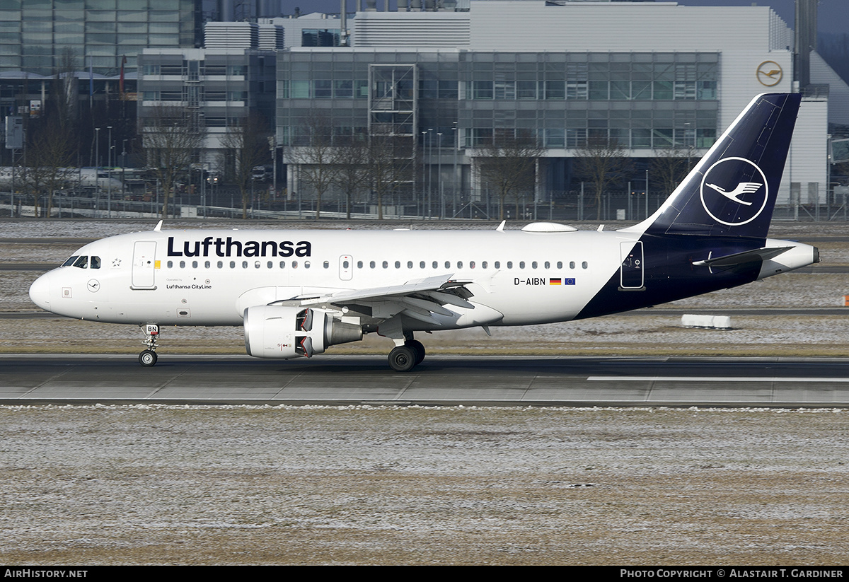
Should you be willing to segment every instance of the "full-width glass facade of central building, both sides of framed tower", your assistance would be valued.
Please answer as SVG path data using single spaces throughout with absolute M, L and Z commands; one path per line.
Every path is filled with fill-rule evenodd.
M 597 137 L 635 149 L 709 148 L 717 137 L 719 53 L 340 50 L 280 53 L 281 143 L 306 140 L 312 109 L 329 116 L 335 135 L 364 135 L 369 92 L 381 91 L 368 85 L 369 64 L 392 63 L 418 69 L 419 145 L 441 134 L 451 147 L 455 127 L 461 148 L 504 132 L 557 149 Z

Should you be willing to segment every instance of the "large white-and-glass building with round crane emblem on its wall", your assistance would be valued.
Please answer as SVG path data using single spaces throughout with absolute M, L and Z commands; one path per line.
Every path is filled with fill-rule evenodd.
M 458 6 L 357 12 L 350 47 L 278 53 L 276 137 L 288 161 L 303 159 L 318 112 L 340 143 L 386 132 L 411 140 L 398 157 L 416 160 L 413 191 L 438 183 L 474 199 L 487 144 L 530 134 L 543 147 L 534 196 L 556 201 L 578 187 L 573 162 L 589 141 L 618 143 L 643 166 L 670 149 L 697 159 L 756 94 L 797 91 L 805 98 L 779 204 L 824 200 L 829 86 L 799 81 L 794 31 L 771 8 Z M 828 70 L 815 53 L 807 59 Z M 846 94 L 832 77 L 831 91 Z

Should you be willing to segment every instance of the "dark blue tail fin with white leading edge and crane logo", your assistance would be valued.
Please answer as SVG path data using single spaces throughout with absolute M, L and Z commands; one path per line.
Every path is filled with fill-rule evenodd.
M 766 238 L 800 103 L 798 93 L 752 99 L 661 208 L 623 230 Z

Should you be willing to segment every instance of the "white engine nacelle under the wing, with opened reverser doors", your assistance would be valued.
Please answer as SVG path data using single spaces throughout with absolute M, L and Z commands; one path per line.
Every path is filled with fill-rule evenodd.
M 256 358 L 308 358 L 330 345 L 361 339 L 362 326 L 335 320 L 328 311 L 283 305 L 245 310 L 245 350 Z

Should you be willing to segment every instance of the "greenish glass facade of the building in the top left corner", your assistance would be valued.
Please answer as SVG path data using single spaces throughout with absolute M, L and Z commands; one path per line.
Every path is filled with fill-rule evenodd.
M 143 48 L 195 47 L 200 0 L 0 0 L 0 71 L 115 76 Z

